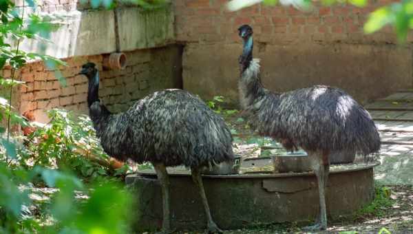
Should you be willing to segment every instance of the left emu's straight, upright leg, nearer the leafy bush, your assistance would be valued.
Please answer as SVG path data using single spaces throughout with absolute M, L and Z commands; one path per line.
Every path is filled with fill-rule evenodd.
M 167 167 L 165 167 L 165 164 L 163 163 L 153 164 L 153 167 L 155 168 L 156 175 L 158 175 L 158 180 L 162 189 L 162 233 L 171 233 L 169 213 L 169 177 Z

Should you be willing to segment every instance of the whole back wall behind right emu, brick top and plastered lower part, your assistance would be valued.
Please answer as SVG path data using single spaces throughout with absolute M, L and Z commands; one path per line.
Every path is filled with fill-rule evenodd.
M 363 34 L 368 8 L 316 6 L 311 12 L 255 5 L 226 12 L 227 1 L 173 1 L 176 40 L 185 45 L 184 89 L 202 98 L 226 96 L 237 103 L 237 28 L 254 30 L 254 57 L 262 59 L 264 85 L 277 92 L 324 84 L 345 89 L 361 102 L 412 85 L 412 47 L 395 45 L 391 28 Z

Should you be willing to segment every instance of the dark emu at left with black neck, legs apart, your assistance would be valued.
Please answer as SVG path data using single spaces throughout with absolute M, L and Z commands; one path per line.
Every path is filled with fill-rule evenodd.
M 162 188 L 162 232 L 170 233 L 169 178 L 166 167 L 191 168 L 200 191 L 209 233 L 222 233 L 213 222 L 200 169 L 233 159 L 231 132 L 200 98 L 181 89 L 166 89 L 138 100 L 127 111 L 112 114 L 98 99 L 99 73 L 94 63 L 79 74 L 89 80 L 87 105 L 100 144 L 119 160 L 151 162 Z

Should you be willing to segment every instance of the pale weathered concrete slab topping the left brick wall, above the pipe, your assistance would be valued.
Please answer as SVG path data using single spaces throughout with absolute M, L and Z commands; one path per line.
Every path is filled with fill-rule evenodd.
M 57 58 L 87 56 L 116 52 L 116 30 L 120 37 L 120 51 L 161 47 L 173 42 L 173 12 L 171 5 L 153 11 L 138 7 L 116 9 L 118 28 L 115 27 L 114 10 L 58 11 L 52 17 L 64 19 L 59 28 L 50 34 L 50 43 L 43 48 L 40 41 L 25 40 L 25 51 L 38 52 Z

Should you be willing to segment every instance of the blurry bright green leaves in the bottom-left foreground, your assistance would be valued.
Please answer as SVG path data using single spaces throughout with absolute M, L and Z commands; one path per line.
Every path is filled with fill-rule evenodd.
M 30 211 L 30 181 L 39 178 L 59 192 L 43 210 L 41 217 Z M 0 162 L 0 233 L 126 233 L 128 193 L 114 182 L 95 184 L 93 190 L 70 173 L 35 167 L 10 168 Z M 83 201 L 75 191 L 88 195 Z M 52 223 L 43 225 L 44 217 Z

